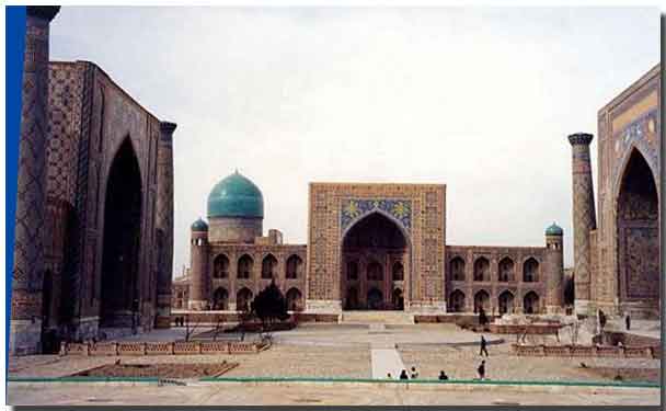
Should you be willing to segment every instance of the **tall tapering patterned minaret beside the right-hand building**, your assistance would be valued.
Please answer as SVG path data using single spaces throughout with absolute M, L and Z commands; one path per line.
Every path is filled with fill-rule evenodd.
M 590 249 L 589 231 L 597 227 L 595 196 L 592 180 L 589 144 L 593 135 L 572 134 L 573 218 L 574 218 L 574 289 L 575 309 L 587 315 L 589 309 Z

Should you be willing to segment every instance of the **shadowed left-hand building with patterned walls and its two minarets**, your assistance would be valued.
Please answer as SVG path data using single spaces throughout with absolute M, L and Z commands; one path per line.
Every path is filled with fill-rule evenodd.
M 175 124 L 89 61 L 49 61 L 27 7 L 10 351 L 169 327 Z M 103 333 L 103 334 L 102 334 Z

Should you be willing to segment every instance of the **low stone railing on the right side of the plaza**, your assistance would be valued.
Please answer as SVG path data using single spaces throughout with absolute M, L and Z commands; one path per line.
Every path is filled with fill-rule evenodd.
M 624 357 L 661 358 L 661 346 L 610 346 L 610 345 L 523 345 L 512 344 L 518 356 L 537 357 Z

